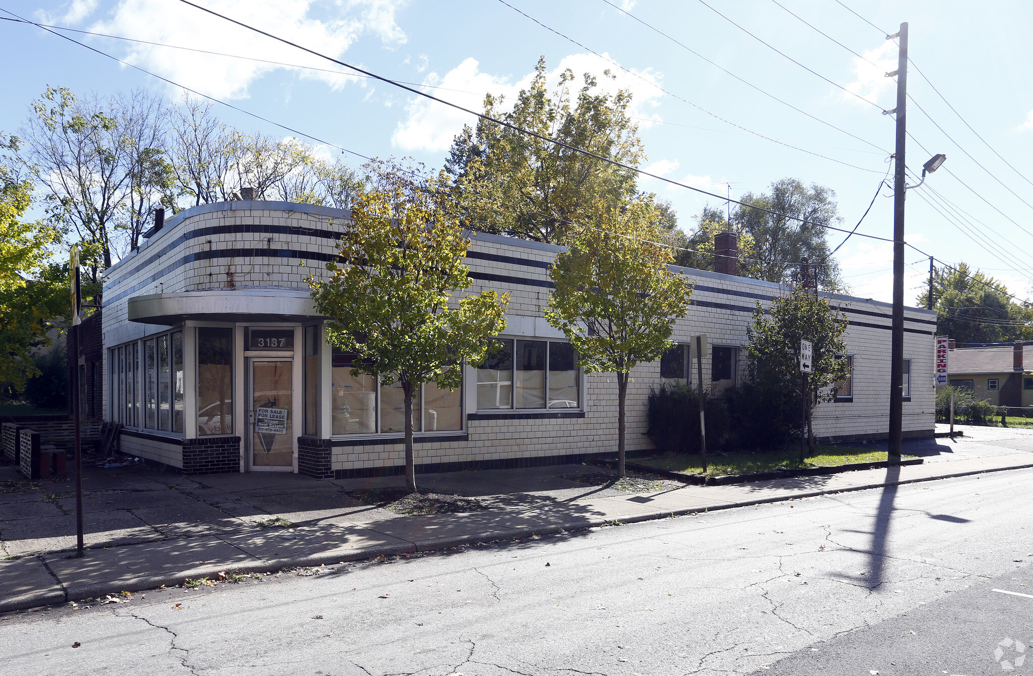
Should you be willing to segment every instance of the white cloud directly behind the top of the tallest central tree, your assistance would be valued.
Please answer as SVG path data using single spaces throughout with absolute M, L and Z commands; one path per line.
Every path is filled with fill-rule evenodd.
M 608 55 L 607 55 L 608 58 Z M 432 90 L 434 95 L 472 111 L 483 110 L 484 94 L 491 92 L 505 96 L 505 102 L 512 103 L 521 89 L 526 89 L 534 78 L 534 72 L 524 75 L 521 80 L 510 83 L 508 78 L 481 72 L 476 59 L 467 58 L 449 70 L 442 78 L 431 72 L 424 80 L 426 85 L 434 85 L 443 89 Z M 632 93 L 632 104 L 629 114 L 644 117 L 644 107 L 652 107 L 662 94 L 650 83 L 659 84 L 661 75 L 646 69 L 639 74 L 643 81 L 619 70 L 609 61 L 589 54 L 572 54 L 564 57 L 559 65 L 547 73 L 550 89 L 559 82 L 560 74 L 569 68 L 576 82 L 582 82 L 582 74 L 589 72 L 598 76 L 599 89 L 616 92 L 627 89 Z M 612 69 L 616 80 L 603 76 L 603 71 Z M 473 116 L 453 107 L 425 98 L 414 98 L 407 105 L 408 117 L 399 123 L 392 136 L 392 144 L 404 150 L 447 150 L 452 137 L 460 132 L 464 124 L 472 125 Z M 649 123 L 646 123 L 649 124 Z

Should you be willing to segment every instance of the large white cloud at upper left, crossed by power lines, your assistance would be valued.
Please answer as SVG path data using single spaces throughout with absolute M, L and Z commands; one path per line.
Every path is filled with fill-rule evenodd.
M 75 0 L 88 3 L 94 0 Z M 341 57 L 364 34 L 393 45 L 406 40 L 395 22 L 405 0 L 348 0 L 334 4 L 315 0 L 210 0 L 214 11 L 249 23 L 275 35 L 332 57 Z M 98 32 L 129 35 L 197 50 L 250 56 L 270 61 L 334 69 L 334 64 L 188 5 L 164 0 L 120 0 Z M 126 61 L 211 96 L 243 98 L 256 79 L 277 66 L 245 59 L 171 50 L 148 44 L 128 48 Z M 352 75 L 294 70 L 302 78 L 343 87 Z

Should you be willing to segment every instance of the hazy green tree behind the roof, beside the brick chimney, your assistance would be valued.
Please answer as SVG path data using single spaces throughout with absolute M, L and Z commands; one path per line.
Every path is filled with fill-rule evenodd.
M 792 283 L 801 258 L 807 256 L 811 263 L 821 264 L 817 276 L 822 289 L 842 290 L 839 266 L 829 257 L 832 248 L 825 239 L 824 226 L 837 225 L 842 220 L 832 189 L 817 184 L 806 186 L 797 179 L 785 178 L 772 183 L 768 192 L 747 192 L 740 202 L 775 213 L 734 205 L 729 223 L 724 208 L 707 206 L 696 216 L 697 231 L 690 236 L 695 246 L 691 248 L 713 250 L 714 225 L 725 223 L 725 229 L 730 225 L 730 231 L 740 236 L 744 251 L 746 244 L 752 247 L 748 255 L 740 254 L 739 274 L 743 277 Z M 713 256 L 700 256 L 698 263 L 706 266 L 702 270 L 714 269 Z

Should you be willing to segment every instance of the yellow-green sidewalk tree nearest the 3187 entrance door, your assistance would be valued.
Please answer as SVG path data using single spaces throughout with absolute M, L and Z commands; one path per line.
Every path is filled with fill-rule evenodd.
M 424 382 L 453 390 L 463 363 L 483 360 L 505 329 L 509 295 L 493 290 L 457 301 L 472 281 L 463 265 L 470 240 L 441 209 L 444 177 L 413 190 L 358 195 L 354 226 L 342 237 L 343 265 L 309 278 L 312 298 L 331 319 L 327 340 L 357 355 L 353 374 L 398 382 L 405 399 L 405 472 L 416 491 L 412 397 Z

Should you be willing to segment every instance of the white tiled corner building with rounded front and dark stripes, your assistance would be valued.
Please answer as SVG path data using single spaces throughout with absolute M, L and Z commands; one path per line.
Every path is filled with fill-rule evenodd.
M 325 275 L 348 212 L 279 202 L 188 209 L 105 273 L 105 420 L 125 425 L 121 449 L 187 473 L 300 471 L 312 477 L 401 473 L 400 391 L 350 374 L 332 349 L 306 278 Z M 157 227 L 157 226 L 156 226 Z M 734 251 L 723 241 L 721 250 Z M 544 319 L 549 267 L 562 247 L 477 234 L 467 255 L 469 293 L 509 291 L 505 350 L 464 367 L 456 392 L 425 386 L 415 405 L 419 471 L 554 464 L 617 448 L 612 374 L 574 366 Z M 708 334 L 708 387 L 745 375 L 756 303 L 788 288 L 726 273 L 679 269 L 695 282 L 674 339 Z M 300 265 L 304 263 L 304 267 Z M 853 371 L 835 403 L 815 413 L 820 437 L 884 438 L 888 420 L 890 306 L 835 296 L 849 317 Z M 905 309 L 904 433 L 934 430 L 936 314 Z M 667 377 L 694 373 L 685 346 L 631 373 L 628 449 L 647 450 L 646 398 Z M 693 378 L 694 380 L 695 378 Z

